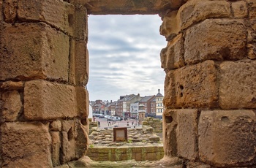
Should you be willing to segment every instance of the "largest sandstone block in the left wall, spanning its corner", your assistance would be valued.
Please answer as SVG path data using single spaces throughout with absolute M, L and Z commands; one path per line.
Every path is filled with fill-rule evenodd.
M 4 27 L 0 39 L 0 80 L 67 80 L 69 37 L 45 23 Z

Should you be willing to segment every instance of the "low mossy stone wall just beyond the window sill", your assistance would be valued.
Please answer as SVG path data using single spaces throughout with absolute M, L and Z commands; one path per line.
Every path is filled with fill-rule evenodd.
M 97 146 L 90 147 L 86 153 L 91 160 L 94 161 L 157 161 L 164 156 L 163 145 L 158 146 L 121 146 L 121 147 L 108 147 Z

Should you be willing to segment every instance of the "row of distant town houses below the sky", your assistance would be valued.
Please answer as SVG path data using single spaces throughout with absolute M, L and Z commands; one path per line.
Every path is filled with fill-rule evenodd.
M 164 105 L 162 100 L 164 96 L 158 89 L 157 95 L 140 96 L 140 94 L 129 94 L 120 96 L 115 102 L 102 100 L 91 101 L 91 107 L 94 113 L 105 115 L 117 115 L 124 118 L 138 118 L 139 112 L 145 112 L 146 116 L 162 118 Z

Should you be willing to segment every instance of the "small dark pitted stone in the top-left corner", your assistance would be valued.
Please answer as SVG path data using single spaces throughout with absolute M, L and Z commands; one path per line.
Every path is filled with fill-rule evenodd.
M 4 21 L 7 23 L 13 23 L 17 16 L 17 0 L 6 0 L 3 4 Z M 1 15 L 1 14 L 0 14 Z

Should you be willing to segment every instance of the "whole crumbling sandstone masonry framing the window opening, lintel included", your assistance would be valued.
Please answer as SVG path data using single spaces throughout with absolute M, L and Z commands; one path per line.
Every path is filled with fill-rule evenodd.
M 87 15 L 108 14 L 162 17 L 165 158 L 255 167 L 255 0 L 0 0 L 1 167 L 86 153 Z

